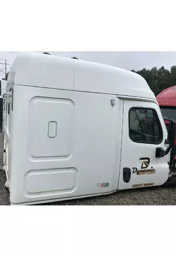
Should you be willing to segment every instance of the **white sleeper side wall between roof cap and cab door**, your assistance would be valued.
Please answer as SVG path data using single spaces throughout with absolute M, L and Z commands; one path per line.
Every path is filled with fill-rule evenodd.
M 10 202 L 115 191 L 122 107 L 113 95 L 15 86 Z

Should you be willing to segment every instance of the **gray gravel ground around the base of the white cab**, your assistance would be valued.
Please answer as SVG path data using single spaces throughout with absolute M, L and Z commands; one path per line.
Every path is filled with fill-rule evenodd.
M 3 167 L 3 136 L 0 134 L 0 169 Z M 10 205 L 9 193 L 4 189 L 6 177 L 0 172 L 0 205 Z M 119 191 L 109 196 L 70 200 L 45 205 L 176 205 L 176 187 L 143 188 Z

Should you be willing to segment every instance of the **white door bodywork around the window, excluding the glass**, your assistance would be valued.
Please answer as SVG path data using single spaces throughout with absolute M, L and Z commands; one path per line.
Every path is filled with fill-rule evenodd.
M 131 108 L 146 108 L 156 110 L 163 130 L 163 140 L 161 143 L 137 143 L 131 140 L 129 136 L 129 111 Z M 138 120 L 136 124 L 138 125 Z M 137 126 L 133 127 L 134 130 L 137 128 Z M 124 100 L 122 156 L 118 189 L 160 186 L 166 182 L 168 179 L 168 161 L 170 156 L 168 154 L 167 156 L 156 158 L 157 147 L 161 147 L 166 150 L 164 145 L 166 138 L 166 126 L 157 104 L 151 102 Z M 124 171 L 126 171 L 126 173 L 131 172 L 131 177 L 129 177 L 127 182 L 124 177 Z

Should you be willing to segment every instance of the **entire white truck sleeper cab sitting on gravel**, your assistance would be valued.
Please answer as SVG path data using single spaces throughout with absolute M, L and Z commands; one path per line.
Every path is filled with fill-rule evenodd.
M 137 74 L 23 52 L 9 72 L 5 105 L 4 170 L 12 205 L 168 180 L 175 122 L 168 136 L 156 97 Z

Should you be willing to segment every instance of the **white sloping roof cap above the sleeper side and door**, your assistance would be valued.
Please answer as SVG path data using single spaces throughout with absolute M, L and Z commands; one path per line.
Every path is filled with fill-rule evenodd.
M 143 77 L 100 63 L 20 52 L 8 75 L 13 85 L 156 99 Z

